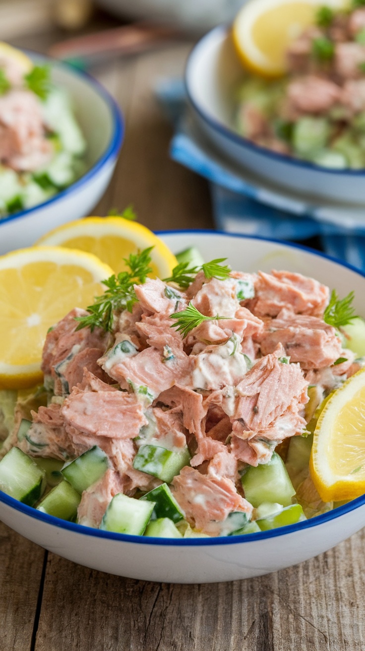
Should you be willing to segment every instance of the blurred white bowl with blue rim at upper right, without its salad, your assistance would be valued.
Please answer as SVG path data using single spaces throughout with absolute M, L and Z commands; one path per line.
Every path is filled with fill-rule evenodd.
M 316 199 L 365 202 L 365 169 L 332 170 L 277 154 L 239 135 L 235 89 L 243 68 L 226 27 L 216 27 L 195 46 L 185 71 L 189 101 L 209 139 L 243 169 Z

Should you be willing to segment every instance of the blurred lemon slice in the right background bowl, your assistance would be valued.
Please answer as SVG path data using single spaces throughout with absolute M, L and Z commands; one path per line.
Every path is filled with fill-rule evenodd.
M 288 46 L 315 21 L 323 0 L 250 0 L 233 23 L 233 40 L 245 68 L 264 77 L 286 72 Z M 342 0 L 325 5 L 340 8 Z

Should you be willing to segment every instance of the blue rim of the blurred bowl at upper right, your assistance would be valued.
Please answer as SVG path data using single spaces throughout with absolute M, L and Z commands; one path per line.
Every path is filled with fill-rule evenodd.
M 205 109 L 202 108 L 198 100 L 196 100 L 190 84 L 190 77 L 193 74 L 192 71 L 195 68 L 196 57 L 199 55 L 199 50 L 206 45 L 206 41 L 210 40 L 210 38 L 212 38 L 215 33 L 222 33 L 222 36 L 227 36 L 230 28 L 230 25 L 217 25 L 217 27 L 213 27 L 213 29 L 211 29 L 208 33 L 202 36 L 200 40 L 198 40 L 198 42 L 189 53 L 189 57 L 187 58 L 184 73 L 185 90 L 190 104 L 193 106 L 193 109 L 195 109 L 196 113 L 203 120 L 203 122 L 206 122 L 208 126 L 210 126 L 213 130 L 217 131 L 220 135 L 228 138 L 235 145 L 243 146 L 252 152 L 255 152 L 256 154 L 266 156 L 269 159 L 271 158 L 273 161 L 280 161 L 286 165 L 295 165 L 300 169 L 307 169 L 308 171 L 322 174 L 337 174 L 338 176 L 347 175 L 360 178 L 362 178 L 362 176 L 365 176 L 365 167 L 362 169 L 333 169 L 331 167 L 323 167 L 323 165 L 317 165 L 316 163 L 310 163 L 309 161 L 302 161 L 299 158 L 294 158 L 293 156 L 288 156 L 287 154 L 279 154 L 278 152 L 273 152 L 266 147 L 256 145 L 249 139 L 245 138 L 243 135 L 240 135 L 238 132 L 234 131 L 233 128 L 230 129 L 220 120 L 211 117 L 209 113 L 207 113 Z

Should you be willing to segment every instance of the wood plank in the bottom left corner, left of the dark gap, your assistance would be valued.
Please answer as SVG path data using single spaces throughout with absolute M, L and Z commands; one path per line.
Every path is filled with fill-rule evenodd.
M 0 523 L 0 648 L 31 651 L 45 551 Z

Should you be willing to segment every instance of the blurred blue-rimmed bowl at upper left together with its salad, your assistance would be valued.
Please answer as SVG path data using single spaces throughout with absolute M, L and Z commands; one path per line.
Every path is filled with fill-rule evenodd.
M 92 77 L 0 44 L 0 253 L 90 214 L 123 132 L 115 100 Z

